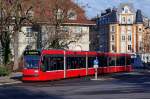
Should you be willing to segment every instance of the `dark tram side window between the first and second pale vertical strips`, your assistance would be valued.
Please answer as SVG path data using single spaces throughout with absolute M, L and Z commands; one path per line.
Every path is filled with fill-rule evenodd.
M 86 67 L 85 57 L 67 57 L 67 69 L 78 69 Z

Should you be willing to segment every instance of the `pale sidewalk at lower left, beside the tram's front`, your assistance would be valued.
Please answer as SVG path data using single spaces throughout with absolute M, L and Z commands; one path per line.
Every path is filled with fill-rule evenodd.
M 22 73 L 17 72 L 17 73 L 11 73 L 9 76 L 0 77 L 0 86 L 22 83 L 21 76 L 22 76 Z

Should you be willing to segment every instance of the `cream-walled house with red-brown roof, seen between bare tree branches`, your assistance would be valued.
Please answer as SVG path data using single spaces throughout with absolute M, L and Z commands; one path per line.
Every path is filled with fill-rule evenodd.
M 25 1 L 26 4 L 31 3 L 28 0 Z M 40 0 L 39 0 L 40 1 Z M 56 0 L 57 1 L 57 0 Z M 53 8 L 53 4 L 56 2 L 55 0 L 45 0 L 43 1 L 43 4 L 45 5 L 45 12 L 46 16 L 51 17 L 50 12 Z M 59 0 L 58 0 L 59 1 Z M 68 6 L 65 6 L 68 5 Z M 64 19 L 64 23 L 62 23 L 62 28 L 64 28 L 65 31 L 69 32 L 71 36 L 82 34 L 82 37 L 80 37 L 76 42 L 69 44 L 69 50 L 83 50 L 83 51 L 89 51 L 89 27 L 92 25 L 95 25 L 95 22 L 92 22 L 88 20 L 85 16 L 85 11 L 79 7 L 77 4 L 75 4 L 73 1 L 68 0 L 67 3 L 65 3 L 64 6 L 66 8 L 67 13 L 67 19 Z M 61 10 L 58 9 L 58 10 Z M 40 9 L 40 6 L 38 3 L 35 3 L 33 5 L 33 10 L 31 11 L 32 17 L 37 20 L 38 27 L 31 26 L 24 26 L 22 27 L 22 32 L 19 34 L 19 55 L 22 55 L 23 51 L 25 49 L 38 49 L 38 48 L 46 48 L 45 41 L 51 38 L 48 38 L 50 35 L 50 32 L 53 32 L 52 24 L 50 24 L 49 18 L 43 16 L 42 9 Z M 48 29 L 49 27 L 49 29 Z M 37 30 L 35 29 L 37 28 Z M 50 30 L 50 31 L 49 31 Z M 49 34 L 48 34 L 49 32 Z M 60 35 L 61 36 L 61 35 Z M 40 40 L 39 40 L 40 39 Z M 40 45 L 39 45 L 40 44 Z

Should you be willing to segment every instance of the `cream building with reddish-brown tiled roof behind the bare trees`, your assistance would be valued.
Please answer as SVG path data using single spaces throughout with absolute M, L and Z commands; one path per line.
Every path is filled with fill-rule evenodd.
M 27 23 L 21 27 L 18 37 L 18 55 L 20 58 L 26 49 L 48 48 L 48 41 L 53 39 L 53 36 L 50 36 L 55 32 L 55 30 L 53 31 L 53 25 L 59 21 L 61 14 L 65 14 L 63 16 L 65 18 L 62 20 L 63 22 L 60 22 L 60 28 L 63 32 L 67 31 L 68 38 L 72 40 L 67 50 L 89 51 L 89 27 L 95 25 L 95 22 L 88 20 L 85 11 L 72 0 L 67 0 L 67 2 L 66 0 L 24 0 L 22 1 L 22 7 L 23 10 L 30 8 L 28 11 L 29 17 L 36 24 Z M 58 21 L 54 22 L 53 17 L 56 17 Z M 62 36 L 58 35 L 58 37 Z M 75 36 L 77 39 L 72 39 Z M 11 43 L 13 56 L 13 41 Z M 1 62 L 2 55 L 0 51 Z

